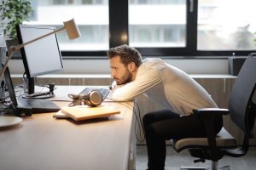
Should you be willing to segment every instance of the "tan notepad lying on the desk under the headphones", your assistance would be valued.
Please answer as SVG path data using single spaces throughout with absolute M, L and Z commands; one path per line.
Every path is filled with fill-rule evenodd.
M 120 113 L 119 110 L 108 105 L 98 105 L 96 107 L 90 107 L 88 105 L 76 105 L 73 107 L 61 108 L 61 112 L 73 118 L 75 121 L 108 117 Z

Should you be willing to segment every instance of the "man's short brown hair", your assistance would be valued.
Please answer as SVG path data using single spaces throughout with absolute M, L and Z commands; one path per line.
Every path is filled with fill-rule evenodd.
M 124 44 L 115 48 L 110 48 L 107 52 L 108 58 L 112 59 L 114 56 L 119 55 L 121 62 L 126 66 L 131 62 L 134 62 L 138 67 L 143 63 L 142 55 L 137 51 L 136 48 L 131 48 L 130 46 Z

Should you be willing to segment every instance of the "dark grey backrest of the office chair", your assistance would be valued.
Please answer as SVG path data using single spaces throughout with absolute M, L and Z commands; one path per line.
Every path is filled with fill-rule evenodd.
M 256 57 L 249 56 L 241 67 L 230 95 L 230 117 L 249 135 L 255 120 L 253 94 L 256 84 Z

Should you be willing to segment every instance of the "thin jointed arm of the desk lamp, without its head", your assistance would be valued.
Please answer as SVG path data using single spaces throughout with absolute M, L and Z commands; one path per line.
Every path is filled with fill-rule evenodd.
M 48 37 L 49 35 L 54 34 L 54 33 L 58 32 L 58 31 L 64 30 L 64 29 L 65 29 L 65 26 L 62 27 L 62 28 L 60 28 L 60 29 L 58 29 L 58 30 L 51 31 L 51 32 L 49 32 L 48 34 L 45 34 L 44 36 L 37 37 L 37 38 L 35 38 L 35 39 L 31 40 L 31 41 L 28 41 L 28 42 L 25 42 L 25 43 L 21 43 L 21 44 L 16 45 L 16 46 L 11 46 L 11 47 L 9 48 L 9 52 L 8 52 L 8 53 L 9 53 L 9 56 L 8 56 L 8 58 L 6 59 L 4 65 L 3 65 L 3 68 L 2 68 L 2 70 L 1 70 L 1 72 L 0 72 L 0 79 L 3 77 L 3 73 L 4 73 L 6 67 L 7 67 L 7 65 L 8 65 L 8 63 L 9 63 L 9 60 L 11 59 L 11 57 L 13 56 L 13 54 L 14 54 L 16 51 L 18 51 L 20 48 L 23 48 L 24 46 L 26 46 L 26 45 L 29 44 L 29 43 L 36 42 L 36 41 L 38 41 L 39 39 L 42 39 L 42 38 L 44 38 L 44 37 Z

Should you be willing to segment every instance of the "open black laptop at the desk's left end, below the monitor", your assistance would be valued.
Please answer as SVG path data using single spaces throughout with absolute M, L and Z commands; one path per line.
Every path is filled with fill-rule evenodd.
M 30 111 L 32 113 L 45 113 L 60 111 L 60 107 L 48 99 L 23 99 L 16 98 L 13 82 L 10 77 L 9 68 L 4 71 L 5 82 L 9 91 L 15 110 Z

